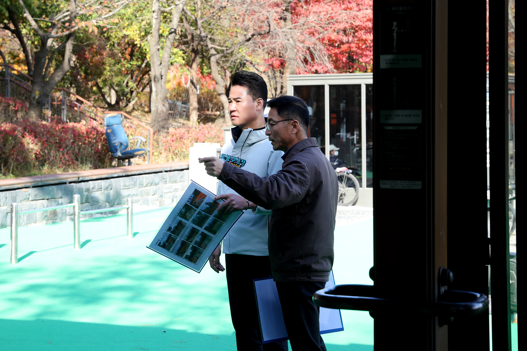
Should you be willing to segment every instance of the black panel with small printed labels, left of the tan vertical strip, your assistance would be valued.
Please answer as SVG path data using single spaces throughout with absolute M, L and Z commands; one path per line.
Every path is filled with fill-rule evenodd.
M 434 162 L 437 153 L 445 162 L 446 145 L 434 145 L 436 103 L 441 105 L 435 96 L 435 6 L 374 2 L 374 284 L 396 300 L 436 300 L 436 263 L 442 263 L 435 255 Z M 446 16 L 441 21 L 440 28 Z M 446 73 L 439 72 L 440 78 Z M 440 86 L 443 95 L 445 89 Z M 438 137 L 444 139 L 446 118 L 440 117 Z M 438 181 L 445 188 L 446 179 Z M 440 217 L 445 206 L 440 198 Z M 387 311 L 374 317 L 376 349 L 436 349 L 437 317 Z

